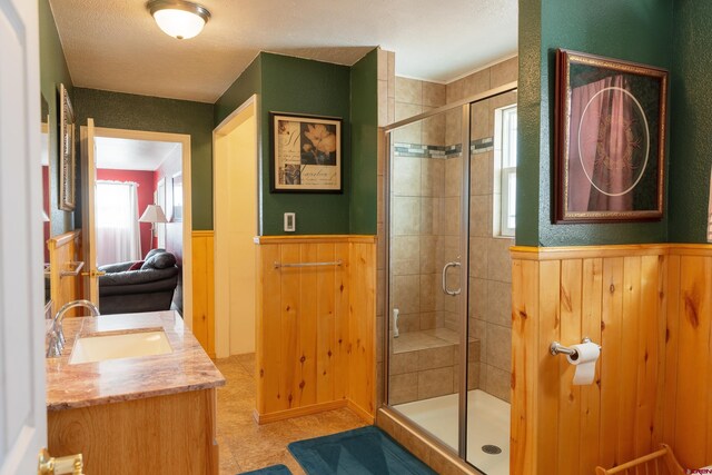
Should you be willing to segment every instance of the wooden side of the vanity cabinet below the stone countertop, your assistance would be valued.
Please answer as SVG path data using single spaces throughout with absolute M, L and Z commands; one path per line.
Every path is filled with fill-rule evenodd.
M 49 451 L 87 474 L 217 474 L 216 405 L 212 388 L 48 412 Z

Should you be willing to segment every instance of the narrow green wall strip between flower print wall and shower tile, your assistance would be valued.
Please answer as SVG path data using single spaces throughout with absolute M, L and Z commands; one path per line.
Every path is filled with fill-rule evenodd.
M 352 67 L 350 232 L 375 235 L 378 176 L 378 50 Z

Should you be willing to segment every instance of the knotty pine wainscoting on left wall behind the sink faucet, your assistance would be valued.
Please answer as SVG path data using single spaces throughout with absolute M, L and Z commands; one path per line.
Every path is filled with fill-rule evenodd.
M 79 261 L 81 231 L 73 230 L 55 236 L 47 241 L 49 249 L 50 298 L 52 299 L 52 316 L 62 305 L 81 298 L 81 277 L 62 275 L 71 270 Z M 79 315 L 80 309 L 72 309 L 68 316 Z

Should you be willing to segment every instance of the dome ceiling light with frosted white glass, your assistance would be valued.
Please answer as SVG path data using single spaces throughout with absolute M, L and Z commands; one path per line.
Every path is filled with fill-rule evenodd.
M 184 0 L 151 0 L 146 8 L 166 34 L 179 40 L 198 36 L 210 19 L 208 9 Z

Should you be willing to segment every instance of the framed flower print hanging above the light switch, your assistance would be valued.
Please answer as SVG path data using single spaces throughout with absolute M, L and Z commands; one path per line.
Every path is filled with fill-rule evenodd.
M 342 119 L 269 112 L 271 192 L 343 192 Z

